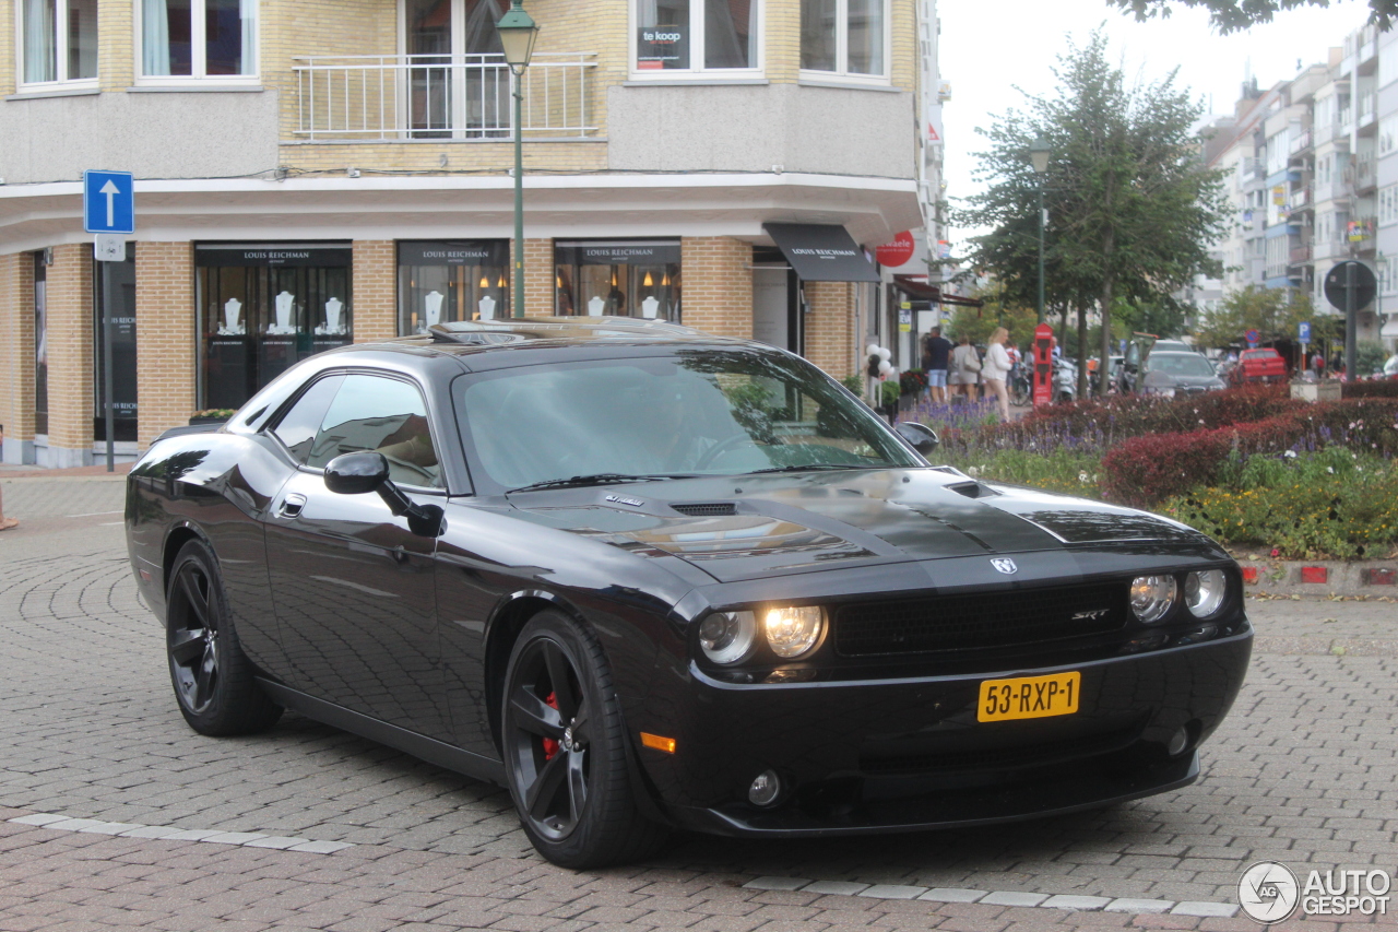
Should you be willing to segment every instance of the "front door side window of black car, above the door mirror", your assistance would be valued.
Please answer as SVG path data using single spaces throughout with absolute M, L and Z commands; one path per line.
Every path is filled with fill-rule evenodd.
M 389 459 L 389 476 L 404 486 L 440 484 L 428 409 L 407 382 L 347 375 L 310 448 L 308 466 L 323 467 L 340 453 L 372 449 Z

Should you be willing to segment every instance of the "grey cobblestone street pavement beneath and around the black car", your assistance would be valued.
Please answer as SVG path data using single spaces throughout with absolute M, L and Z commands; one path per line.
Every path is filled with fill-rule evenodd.
M 1239 875 L 1258 859 L 1297 873 L 1398 863 L 1394 603 L 1250 600 L 1260 634 L 1250 680 L 1204 749 L 1204 778 L 1179 792 L 976 831 L 681 837 L 646 865 L 573 873 L 533 854 L 493 786 L 291 714 L 256 737 L 190 732 L 112 523 L 122 483 L 0 481 L 6 512 L 24 521 L 0 535 L 0 931 L 1257 929 L 1241 915 L 1149 905 L 884 897 L 970 889 L 1232 907 Z M 4 821 L 35 813 L 192 831 Z M 352 847 L 193 840 L 214 831 Z M 772 877 L 823 883 L 744 886 L 781 886 Z

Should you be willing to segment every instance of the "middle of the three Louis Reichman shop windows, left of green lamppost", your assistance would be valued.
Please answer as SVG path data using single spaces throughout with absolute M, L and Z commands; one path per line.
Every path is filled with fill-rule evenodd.
M 398 243 L 398 334 L 510 316 L 506 239 Z

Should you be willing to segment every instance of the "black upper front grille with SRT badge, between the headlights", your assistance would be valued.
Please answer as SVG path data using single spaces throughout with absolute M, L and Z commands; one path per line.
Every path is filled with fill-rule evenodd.
M 843 656 L 976 651 L 1062 641 L 1125 624 L 1127 585 L 1061 586 L 871 602 L 839 609 Z

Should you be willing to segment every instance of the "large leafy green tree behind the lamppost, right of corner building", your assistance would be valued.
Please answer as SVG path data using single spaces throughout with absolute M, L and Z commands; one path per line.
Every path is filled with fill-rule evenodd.
M 1082 340 L 1093 304 L 1109 318 L 1118 298 L 1166 305 L 1195 274 L 1219 274 L 1208 246 L 1227 206 L 1222 174 L 1198 161 L 1191 129 L 1202 106 L 1176 88 L 1173 73 L 1128 87 L 1097 29 L 1060 56 L 1054 76 L 1057 97 L 1026 95 L 1028 112 L 977 130 L 990 141 L 977 175 L 990 183 L 958 220 L 991 230 L 972 241 L 970 260 L 1025 301 L 1037 285 L 1039 223 L 1039 179 L 1026 155 L 1030 140 L 1046 140 L 1046 287 L 1057 306 L 1076 311 Z M 1103 327 L 1100 353 L 1110 350 L 1111 327 Z M 1106 393 L 1107 367 L 1099 372 Z

